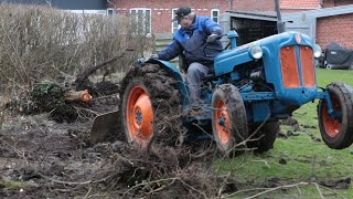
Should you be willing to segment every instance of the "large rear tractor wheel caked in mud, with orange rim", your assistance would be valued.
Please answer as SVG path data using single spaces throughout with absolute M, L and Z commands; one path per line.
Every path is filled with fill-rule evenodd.
M 132 67 L 122 80 L 121 123 L 126 139 L 148 148 L 156 136 L 175 143 L 180 96 L 175 80 L 158 64 Z M 159 137 L 161 138 L 161 137 Z M 163 139 L 161 138 L 161 139 Z

